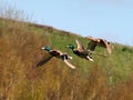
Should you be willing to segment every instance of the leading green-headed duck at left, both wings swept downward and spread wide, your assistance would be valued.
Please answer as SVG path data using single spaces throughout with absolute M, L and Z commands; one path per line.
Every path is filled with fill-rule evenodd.
M 50 47 L 45 46 L 41 48 L 42 50 L 48 51 L 49 57 L 45 59 L 42 59 L 37 67 L 41 67 L 42 64 L 47 63 L 48 61 L 50 61 L 52 58 L 58 58 L 63 60 L 63 62 L 70 67 L 71 69 L 75 69 L 75 67 L 73 64 L 70 63 L 70 60 L 72 59 L 72 57 L 70 57 L 66 52 L 62 52 L 58 49 L 51 49 Z

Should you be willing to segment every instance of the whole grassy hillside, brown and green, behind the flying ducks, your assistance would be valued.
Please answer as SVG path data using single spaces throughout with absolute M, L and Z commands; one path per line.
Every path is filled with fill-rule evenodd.
M 52 27 L 0 19 L 0 100 L 133 100 L 133 48 L 113 43 L 111 56 L 93 54 L 90 62 L 65 48 L 75 39 L 89 42 Z M 76 69 L 55 58 L 35 68 L 47 56 L 43 46 L 68 52 Z

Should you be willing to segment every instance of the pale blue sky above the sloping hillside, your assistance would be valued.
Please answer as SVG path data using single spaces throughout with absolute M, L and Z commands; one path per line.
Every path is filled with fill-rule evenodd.
M 133 0 L 0 0 L 39 24 L 133 46 Z

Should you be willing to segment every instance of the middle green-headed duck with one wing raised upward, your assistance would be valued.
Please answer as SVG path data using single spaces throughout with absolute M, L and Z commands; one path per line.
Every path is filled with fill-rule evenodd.
M 78 57 L 80 57 L 82 59 L 86 59 L 89 61 L 93 61 L 93 58 L 91 57 L 90 52 L 84 49 L 84 47 L 81 43 L 81 41 L 79 41 L 76 39 L 75 43 L 76 43 L 76 48 L 73 44 L 68 44 L 66 47 L 70 48 L 72 50 L 72 52 L 74 54 L 76 54 Z

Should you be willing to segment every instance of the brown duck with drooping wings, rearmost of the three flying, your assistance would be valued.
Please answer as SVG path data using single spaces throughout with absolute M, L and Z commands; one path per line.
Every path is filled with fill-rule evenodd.
M 88 43 L 88 51 L 94 51 L 96 47 L 103 47 L 108 50 L 108 52 L 111 54 L 112 53 L 112 44 L 105 39 L 101 38 L 93 38 L 91 36 L 85 37 L 89 41 Z

